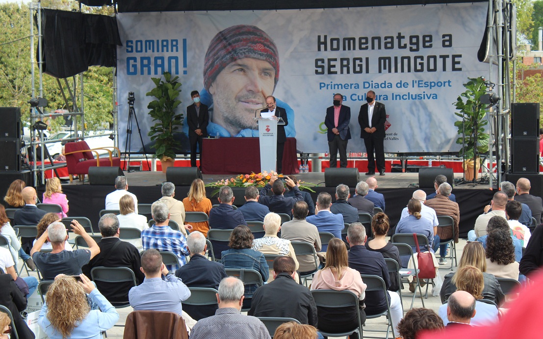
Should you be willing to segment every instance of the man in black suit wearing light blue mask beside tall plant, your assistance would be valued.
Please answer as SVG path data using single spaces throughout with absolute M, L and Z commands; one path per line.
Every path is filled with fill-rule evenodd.
M 188 139 L 191 142 L 191 166 L 196 167 L 196 147 L 200 148 L 200 168 L 202 140 L 207 137 L 207 124 L 209 124 L 209 112 L 207 105 L 200 103 L 200 93 L 191 92 L 191 98 L 194 101 L 192 105 L 187 106 L 187 124 Z

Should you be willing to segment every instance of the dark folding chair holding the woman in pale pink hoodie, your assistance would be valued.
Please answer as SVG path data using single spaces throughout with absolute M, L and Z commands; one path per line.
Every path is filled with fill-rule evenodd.
M 315 300 L 315 305 L 317 305 L 317 313 L 319 307 L 326 307 L 327 309 L 339 309 L 338 311 L 342 311 L 342 309 L 345 307 L 352 307 L 356 310 L 357 314 L 358 325 L 355 329 L 340 332 L 326 332 L 318 328 L 321 335 L 324 337 L 342 337 L 357 333 L 359 338 L 363 337 L 362 321 L 360 319 L 360 312 L 358 311 L 358 296 L 355 293 L 348 290 L 313 290 L 311 291 L 311 294 Z M 320 326 L 321 322 L 318 324 Z

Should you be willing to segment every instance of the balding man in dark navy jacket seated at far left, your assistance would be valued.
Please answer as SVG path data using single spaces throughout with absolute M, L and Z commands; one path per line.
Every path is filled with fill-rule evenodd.
M 26 205 L 24 205 L 22 209 L 18 209 L 15 211 L 15 216 L 13 219 L 14 225 L 35 226 L 40 222 L 40 219 L 47 214 L 47 212 L 40 210 L 36 207 L 37 195 L 34 187 L 24 187 L 21 194 Z M 33 241 L 34 238 L 21 238 L 21 250 L 19 250 L 19 255 L 21 256 L 21 259 L 27 264 L 27 267 L 34 271 L 34 269 L 36 269 L 34 261 L 27 254 L 30 251 L 30 248 L 32 248 Z

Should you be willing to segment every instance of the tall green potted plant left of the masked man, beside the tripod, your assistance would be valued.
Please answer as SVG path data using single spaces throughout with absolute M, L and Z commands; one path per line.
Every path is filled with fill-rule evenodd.
M 147 96 L 156 99 L 151 101 L 147 108 L 156 122 L 149 131 L 151 141 L 155 141 L 151 147 L 155 149 L 155 158 L 162 164 L 162 172 L 166 173 L 166 168 L 174 165 L 175 149 L 181 146 L 180 142 L 175 140 L 174 132 L 182 126 L 183 114 L 175 112 L 181 104 L 178 100 L 181 91 L 181 83 L 177 81 L 179 77 L 172 78 L 169 72 L 164 72 L 163 76 L 164 80 L 151 78 L 156 87 L 147 92 Z

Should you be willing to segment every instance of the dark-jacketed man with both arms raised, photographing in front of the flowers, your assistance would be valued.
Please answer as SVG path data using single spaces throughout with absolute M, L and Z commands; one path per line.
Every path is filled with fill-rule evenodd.
M 283 193 L 285 193 L 285 184 L 283 184 L 283 180 L 285 180 L 289 189 L 294 192 L 294 198 L 285 197 L 283 195 Z M 270 178 L 269 183 L 260 190 L 258 202 L 268 206 L 270 212 L 288 214 L 292 218 L 292 206 L 294 206 L 295 202 L 304 200 L 304 197 L 291 178 L 283 177 L 283 180 L 273 175 Z M 271 197 L 267 196 L 269 190 L 273 192 L 273 196 Z

